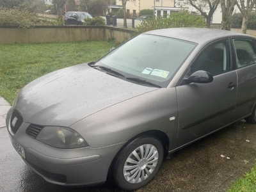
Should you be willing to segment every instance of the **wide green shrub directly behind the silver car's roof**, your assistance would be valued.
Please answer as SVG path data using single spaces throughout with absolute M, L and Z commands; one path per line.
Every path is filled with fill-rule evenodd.
M 154 29 L 164 28 L 206 28 L 203 16 L 194 15 L 187 11 L 172 13 L 169 17 L 143 20 L 136 28 L 136 34 Z

